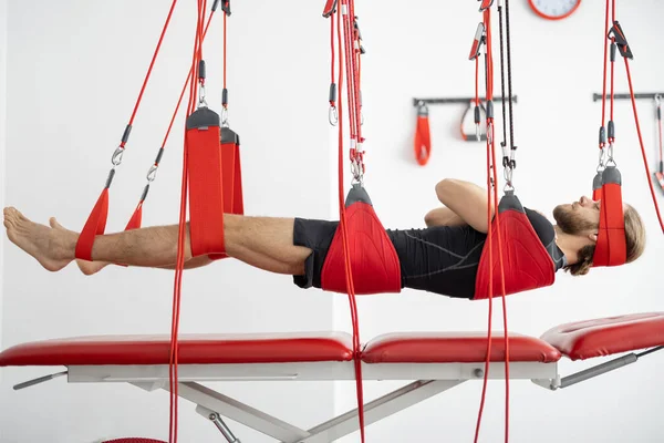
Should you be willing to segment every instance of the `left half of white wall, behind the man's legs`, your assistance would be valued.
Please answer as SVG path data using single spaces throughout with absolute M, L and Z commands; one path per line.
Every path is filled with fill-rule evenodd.
M 170 6 L 159 3 L 9 3 L 7 204 L 40 223 L 56 216 L 72 229 L 83 226 Z M 190 63 L 194 4 L 178 2 L 176 8 L 111 190 L 108 231 L 126 224 L 162 143 Z M 248 214 L 330 217 L 330 177 L 320 166 L 328 161 L 329 68 L 326 53 L 319 50 L 326 48 L 329 29 L 321 27 L 322 18 L 317 20 L 319 9 L 303 3 L 297 13 L 283 14 L 276 2 L 260 8 L 234 3 L 230 122 L 241 136 Z M 208 39 L 208 100 L 218 110 L 220 16 Z M 177 223 L 183 124 L 178 120 L 168 143 L 145 207 L 145 225 Z M 110 268 L 84 278 L 69 267 L 49 274 L 13 246 L 7 248 L 6 264 L 3 347 L 54 337 L 170 331 L 172 271 Z M 332 297 L 298 290 L 290 277 L 229 260 L 185 275 L 181 333 L 330 330 L 332 320 Z M 166 393 L 146 394 L 128 385 L 66 385 L 63 379 L 11 390 L 49 371 L 2 371 L 2 442 L 91 442 L 122 435 L 167 440 Z M 259 389 L 231 384 L 225 393 L 303 426 L 323 421 L 333 409 L 332 383 L 317 385 L 314 393 L 290 383 Z M 220 437 L 187 402 L 180 405 L 180 423 L 183 442 Z M 243 427 L 237 432 L 243 441 L 270 441 Z

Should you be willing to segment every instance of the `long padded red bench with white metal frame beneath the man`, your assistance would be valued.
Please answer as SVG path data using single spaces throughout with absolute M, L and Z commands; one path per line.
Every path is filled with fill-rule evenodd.
M 490 361 L 505 361 L 494 334 Z M 557 390 L 633 363 L 664 347 L 664 312 L 636 313 L 561 324 L 540 338 L 509 334 L 510 378 Z M 330 442 L 359 429 L 350 411 L 302 430 L 203 387 L 205 381 L 355 380 L 352 337 L 345 332 L 181 334 L 178 393 L 215 421 L 229 442 L 229 418 L 280 442 Z M 643 350 L 641 353 L 633 351 Z M 630 352 L 590 370 L 560 377 L 558 361 Z M 167 389 L 169 336 L 80 337 L 22 343 L 0 353 L 0 367 L 63 365 L 66 371 L 15 387 L 68 375 L 69 382 L 127 382 L 148 391 Z M 364 406 L 365 424 L 422 402 L 468 380 L 484 379 L 486 332 L 405 332 L 374 338 L 362 348 L 363 380 L 415 380 Z M 491 364 L 490 379 L 505 378 Z

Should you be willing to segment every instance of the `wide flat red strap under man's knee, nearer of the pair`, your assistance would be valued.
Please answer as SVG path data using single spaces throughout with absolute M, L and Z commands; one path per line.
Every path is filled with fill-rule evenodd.
M 194 257 L 225 253 L 219 115 L 200 107 L 187 119 L 189 229 Z

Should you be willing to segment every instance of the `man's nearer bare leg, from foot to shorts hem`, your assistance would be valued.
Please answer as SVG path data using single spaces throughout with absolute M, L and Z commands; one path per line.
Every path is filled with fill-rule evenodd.
M 51 227 L 40 225 L 14 208 L 4 209 L 4 227 L 9 239 L 44 268 L 56 271 L 74 260 L 79 234 L 63 228 L 55 219 L 51 219 L 50 224 Z M 292 218 L 227 214 L 224 228 L 226 253 L 230 257 L 271 272 L 304 272 L 304 259 L 311 249 L 293 245 Z M 177 225 L 97 236 L 92 258 L 128 266 L 170 267 L 177 261 Z M 185 260 L 191 260 L 188 226 L 184 254 Z

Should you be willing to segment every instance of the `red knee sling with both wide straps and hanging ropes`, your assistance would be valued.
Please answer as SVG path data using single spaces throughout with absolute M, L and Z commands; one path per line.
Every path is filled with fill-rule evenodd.
M 212 10 L 221 4 L 224 18 L 230 16 L 230 2 L 215 1 Z M 207 106 L 205 97 L 205 62 L 203 40 L 205 9 L 207 1 L 198 0 L 197 35 L 194 48 L 190 78 L 189 104 L 185 125 L 185 150 L 183 158 L 183 187 L 178 233 L 178 254 L 173 298 L 172 342 L 170 342 L 170 434 L 169 441 L 177 441 L 178 424 L 178 330 L 184 270 L 186 236 L 187 197 L 189 202 L 189 230 L 191 254 L 212 259 L 225 258 L 224 214 L 227 210 L 243 212 L 241 175 L 239 171 L 239 137 L 228 128 L 226 75 L 224 82 L 222 117 Z M 226 20 L 225 20 L 226 22 Z M 226 62 L 226 25 L 225 25 Z M 226 70 L 226 63 L 225 63 Z M 225 71 L 226 74 L 226 71 Z M 196 93 L 198 104 L 196 105 Z M 224 126 L 224 127 L 222 127 Z M 226 188 L 228 185 L 228 189 Z M 235 200 L 238 197 L 238 200 Z

